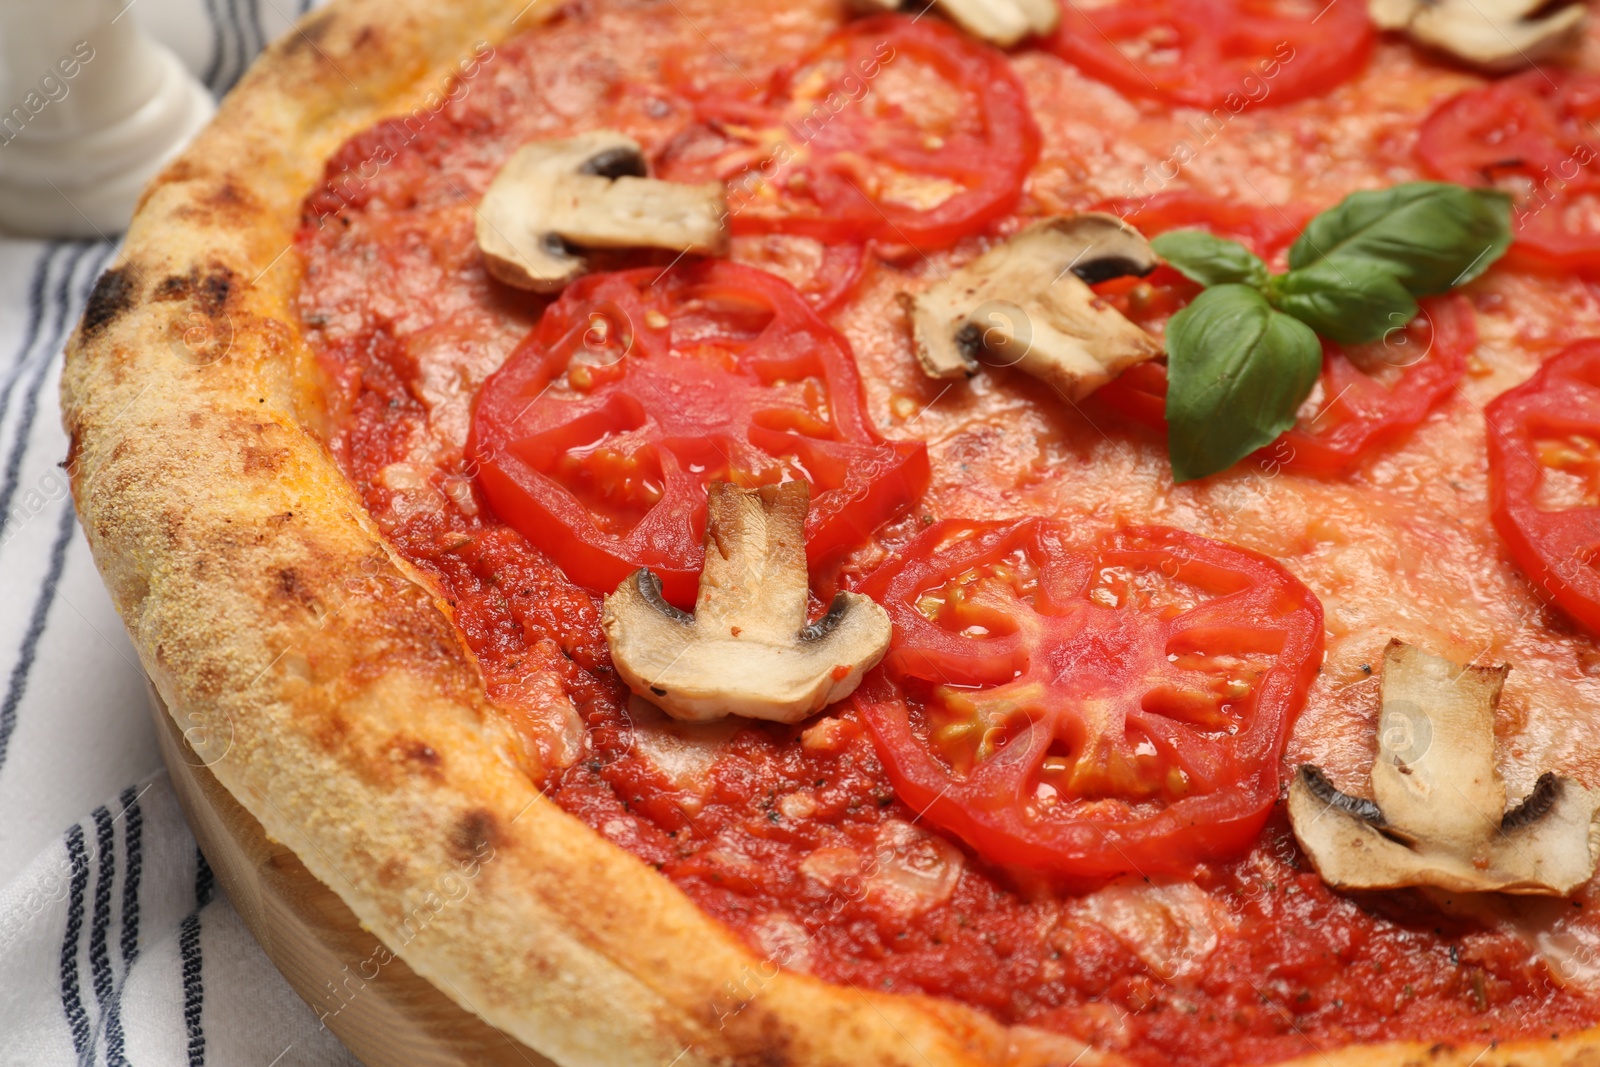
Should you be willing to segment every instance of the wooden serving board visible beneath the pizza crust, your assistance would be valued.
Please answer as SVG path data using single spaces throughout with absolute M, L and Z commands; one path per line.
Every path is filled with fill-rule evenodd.
M 294 853 L 267 838 L 189 747 L 154 688 L 150 710 L 178 803 L 227 899 L 294 992 L 366 1067 L 555 1067 L 398 957 L 371 979 L 358 974 L 379 939 Z M 357 977 L 344 985 L 349 976 Z

